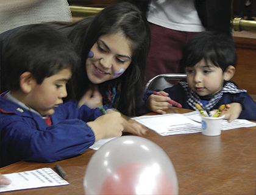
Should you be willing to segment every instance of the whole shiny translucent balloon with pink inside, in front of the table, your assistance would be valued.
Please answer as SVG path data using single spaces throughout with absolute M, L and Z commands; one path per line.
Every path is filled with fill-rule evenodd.
M 176 172 L 154 142 L 123 136 L 105 143 L 91 157 L 85 194 L 178 194 Z

